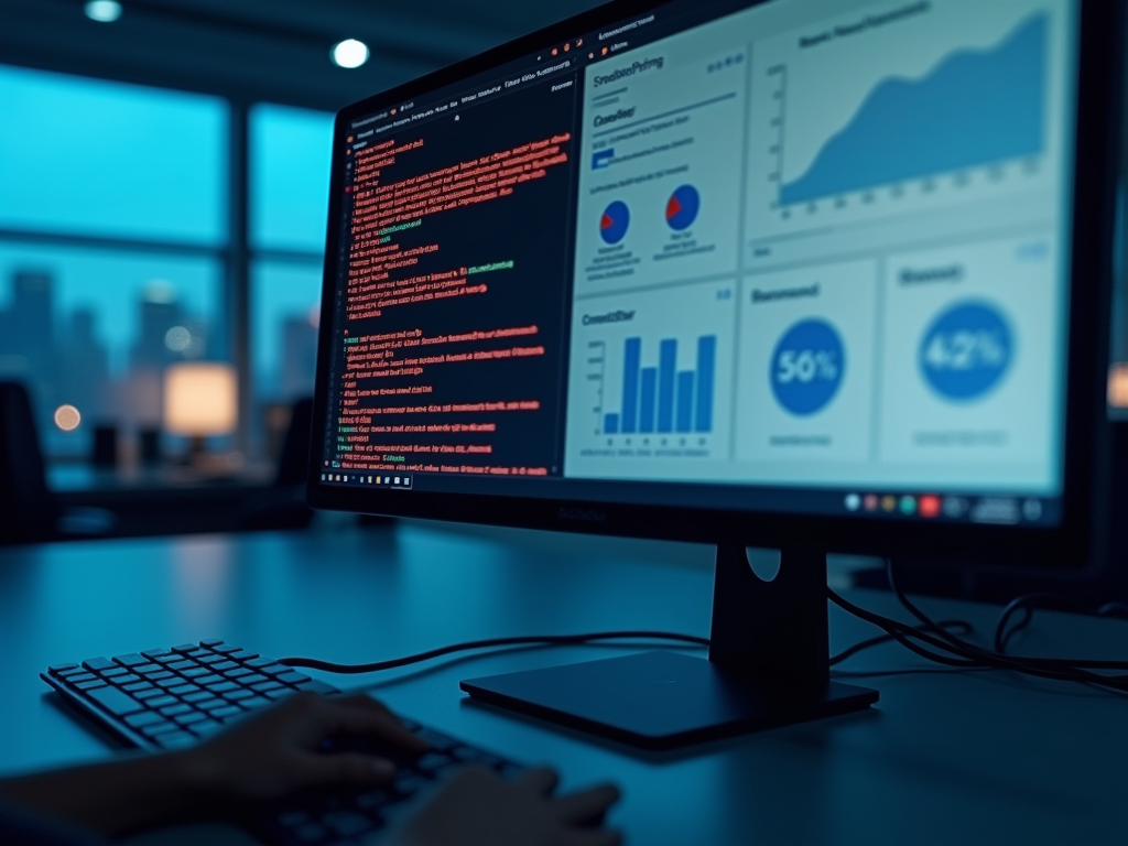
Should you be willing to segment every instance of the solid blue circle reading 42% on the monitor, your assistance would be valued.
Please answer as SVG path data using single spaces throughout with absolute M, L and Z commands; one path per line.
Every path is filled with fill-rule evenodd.
M 943 311 L 920 341 L 925 381 L 952 402 L 978 399 L 1011 365 L 1014 342 L 1003 312 L 989 302 L 959 302 Z

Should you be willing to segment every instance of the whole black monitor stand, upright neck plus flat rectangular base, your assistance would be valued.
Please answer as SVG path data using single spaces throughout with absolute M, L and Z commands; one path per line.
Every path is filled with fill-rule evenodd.
M 830 680 L 827 556 L 717 546 L 708 660 L 644 652 L 467 679 L 474 699 L 645 749 L 676 749 L 869 707 L 878 691 Z

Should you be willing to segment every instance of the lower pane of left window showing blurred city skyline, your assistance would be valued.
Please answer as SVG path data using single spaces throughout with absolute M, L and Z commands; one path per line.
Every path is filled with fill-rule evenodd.
M 86 453 L 98 424 L 159 428 L 165 368 L 226 358 L 213 257 L 0 243 L 0 379 L 29 386 L 49 455 Z

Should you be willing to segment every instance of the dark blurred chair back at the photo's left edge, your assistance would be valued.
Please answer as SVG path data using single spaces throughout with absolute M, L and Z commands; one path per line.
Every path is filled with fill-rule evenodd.
M 32 398 L 19 382 L 0 382 L 0 544 L 50 538 L 58 519 Z

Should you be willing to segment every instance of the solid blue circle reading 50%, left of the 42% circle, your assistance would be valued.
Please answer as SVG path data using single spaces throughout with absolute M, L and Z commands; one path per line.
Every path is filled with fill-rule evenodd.
M 772 353 L 772 391 L 785 411 L 807 417 L 835 398 L 845 368 L 846 353 L 835 327 L 817 318 L 801 320 Z

